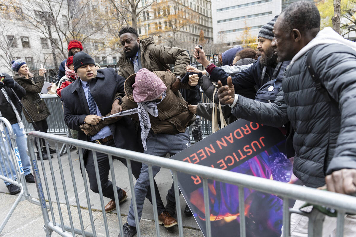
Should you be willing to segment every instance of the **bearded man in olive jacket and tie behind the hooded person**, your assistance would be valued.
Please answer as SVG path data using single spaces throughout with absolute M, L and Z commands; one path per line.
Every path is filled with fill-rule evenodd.
M 156 45 L 153 37 L 140 40 L 133 27 L 123 27 L 119 32 L 120 43 L 124 53 L 117 62 L 118 74 L 124 78 L 135 74 L 141 68 L 149 71 L 170 71 L 168 64 L 174 64 L 176 81 L 171 85 L 171 90 L 177 92 L 180 79 L 187 72 L 186 67 L 190 58 L 185 49 Z

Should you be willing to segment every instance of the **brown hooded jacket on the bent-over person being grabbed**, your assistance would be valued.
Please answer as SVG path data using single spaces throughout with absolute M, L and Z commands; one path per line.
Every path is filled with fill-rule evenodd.
M 181 99 L 174 94 L 169 87 L 176 81 L 176 76 L 171 72 L 155 71 L 159 79 L 161 79 L 167 86 L 167 95 L 163 101 L 157 104 L 158 116 L 153 117 L 150 115 L 151 129 L 154 133 L 163 134 L 178 134 L 184 133 L 185 129 L 192 124 L 195 120 L 195 115 L 190 113 L 188 109 L 188 102 Z M 133 100 L 132 85 L 135 83 L 135 76 L 133 74 L 129 76 L 124 84 L 124 90 L 126 96 L 122 98 L 122 110 L 128 110 L 137 108 L 137 103 Z M 182 87 L 189 88 L 188 84 L 182 84 Z M 106 116 L 106 115 L 105 115 Z M 138 121 L 138 114 L 129 115 L 131 118 Z M 104 128 L 104 126 L 116 122 L 118 118 L 107 118 L 105 121 L 101 120 L 97 125 L 83 124 L 80 125 L 81 129 L 85 129 L 89 132 L 89 135 L 94 135 Z

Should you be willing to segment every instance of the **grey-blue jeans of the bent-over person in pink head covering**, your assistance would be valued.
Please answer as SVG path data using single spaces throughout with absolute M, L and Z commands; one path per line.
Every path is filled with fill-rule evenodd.
M 166 154 L 169 153 L 171 156 L 173 156 L 176 153 L 190 146 L 189 130 L 187 129 L 185 130 L 185 133 L 178 133 L 176 135 L 161 134 L 161 133 L 155 134 L 151 130 L 150 133 L 148 134 L 146 144 L 147 144 L 147 151 L 144 152 L 145 154 L 166 157 Z M 159 169 L 161 169 L 161 167 L 152 166 L 153 178 L 159 172 Z M 142 163 L 141 173 L 135 184 L 135 197 L 136 197 L 137 213 L 139 219 L 138 221 L 141 220 L 143 203 L 146 198 L 148 187 L 150 187 L 148 165 Z M 158 215 L 161 213 L 158 213 Z M 129 215 L 127 216 L 127 222 L 129 222 L 130 226 L 136 226 L 132 199 L 131 199 Z

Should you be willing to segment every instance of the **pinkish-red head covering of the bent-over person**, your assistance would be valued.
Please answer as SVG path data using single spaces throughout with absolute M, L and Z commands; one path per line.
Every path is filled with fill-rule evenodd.
M 137 103 L 157 99 L 167 90 L 167 86 L 155 73 L 142 68 L 136 73 L 132 89 L 133 100 Z

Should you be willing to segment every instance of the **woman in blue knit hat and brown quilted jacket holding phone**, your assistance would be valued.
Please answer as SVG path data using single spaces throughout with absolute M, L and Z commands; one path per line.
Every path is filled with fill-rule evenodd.
M 14 76 L 14 80 L 26 90 L 26 95 L 22 97 L 21 101 L 28 112 L 28 114 L 24 113 L 27 121 L 32 123 L 33 128 L 35 128 L 36 131 L 47 133 L 48 125 L 46 119 L 50 113 L 45 101 L 39 94 L 44 84 L 45 77 L 43 77 L 43 75 L 46 73 L 46 69 L 40 68 L 38 76 L 34 76 L 28 69 L 26 62 L 22 59 L 12 61 L 11 68 L 18 73 L 18 75 Z M 51 90 L 51 87 L 52 86 L 47 87 L 47 90 Z M 36 143 L 36 148 L 38 150 L 37 160 L 40 160 L 39 152 L 42 153 L 43 160 L 48 160 L 45 140 L 40 139 L 40 143 L 41 150 L 38 150 L 38 145 Z M 49 151 L 50 153 L 56 152 L 56 150 L 51 148 Z M 53 156 L 51 155 L 51 158 L 52 157 Z

